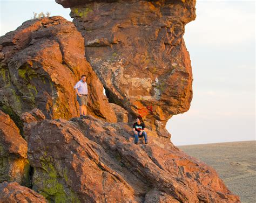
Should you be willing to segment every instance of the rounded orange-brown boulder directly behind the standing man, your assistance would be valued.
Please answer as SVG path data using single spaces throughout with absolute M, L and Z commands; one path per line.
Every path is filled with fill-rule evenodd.
M 35 107 L 48 118 L 78 115 L 75 86 L 89 87 L 88 113 L 116 122 L 100 83 L 84 55 L 84 40 L 62 17 L 28 20 L 0 38 L 0 108 L 19 116 Z M 15 118 L 15 116 L 12 116 Z

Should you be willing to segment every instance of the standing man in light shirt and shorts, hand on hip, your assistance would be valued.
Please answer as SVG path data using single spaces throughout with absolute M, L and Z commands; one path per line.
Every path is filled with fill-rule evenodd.
M 79 103 L 80 118 L 86 118 L 87 115 L 87 103 L 88 103 L 88 89 L 85 82 L 86 75 L 81 76 L 74 89 L 76 90 L 77 101 Z

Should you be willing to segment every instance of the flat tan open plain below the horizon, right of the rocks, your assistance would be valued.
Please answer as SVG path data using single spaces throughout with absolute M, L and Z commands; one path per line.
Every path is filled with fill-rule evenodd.
M 256 141 L 178 146 L 212 166 L 241 202 L 256 202 Z

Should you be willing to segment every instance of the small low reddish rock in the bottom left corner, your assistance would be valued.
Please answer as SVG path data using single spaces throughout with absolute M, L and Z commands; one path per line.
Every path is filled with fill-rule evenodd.
M 4 181 L 0 184 L 0 202 L 38 202 L 46 203 L 47 201 L 41 195 L 28 187 L 23 187 L 18 183 L 8 183 Z

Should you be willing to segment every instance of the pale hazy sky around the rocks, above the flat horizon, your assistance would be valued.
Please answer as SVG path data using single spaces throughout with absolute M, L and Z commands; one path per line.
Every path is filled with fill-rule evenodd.
M 50 1 L 0 0 L 1 36 L 33 17 L 63 16 Z M 167 122 L 175 145 L 255 140 L 255 1 L 197 1 L 197 18 L 185 26 L 192 62 L 193 100 Z

